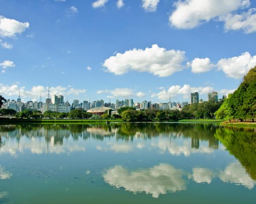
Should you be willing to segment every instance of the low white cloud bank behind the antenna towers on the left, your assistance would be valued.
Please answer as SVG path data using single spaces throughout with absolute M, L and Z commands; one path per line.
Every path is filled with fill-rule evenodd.
M 26 90 L 25 87 L 20 87 L 17 84 L 14 85 L 3 85 L 0 83 L 0 93 L 5 96 L 17 96 L 19 94 L 23 98 L 38 98 L 40 96 L 40 93 L 42 91 L 42 96 L 47 97 L 48 96 L 48 87 L 44 87 L 41 85 L 33 86 L 30 90 Z M 85 93 L 86 89 L 76 89 L 72 88 L 70 86 L 63 87 L 63 86 L 56 86 L 56 87 L 50 87 L 50 94 L 56 94 L 56 95 L 79 95 L 82 93 Z

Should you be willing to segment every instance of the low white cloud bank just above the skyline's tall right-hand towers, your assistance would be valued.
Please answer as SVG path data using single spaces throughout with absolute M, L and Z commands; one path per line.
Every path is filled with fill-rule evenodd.
M 183 98 L 187 98 L 190 93 L 198 92 L 199 94 L 207 94 L 213 91 L 213 87 L 191 87 L 190 85 L 172 85 L 168 90 L 163 89 L 157 94 L 152 94 L 151 97 L 158 97 L 160 100 L 167 100 L 169 97 L 176 97 L 177 95 L 183 95 Z

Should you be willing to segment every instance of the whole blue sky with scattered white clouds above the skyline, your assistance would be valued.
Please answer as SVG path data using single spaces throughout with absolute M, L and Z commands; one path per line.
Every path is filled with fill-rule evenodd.
M 254 0 L 0 0 L 0 94 L 220 98 L 256 65 L 255 45 Z

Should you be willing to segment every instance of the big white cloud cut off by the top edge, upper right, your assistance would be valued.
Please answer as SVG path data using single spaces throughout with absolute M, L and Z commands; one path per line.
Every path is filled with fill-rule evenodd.
M 178 0 L 169 17 L 172 26 L 191 29 L 216 17 L 250 6 L 250 0 Z

